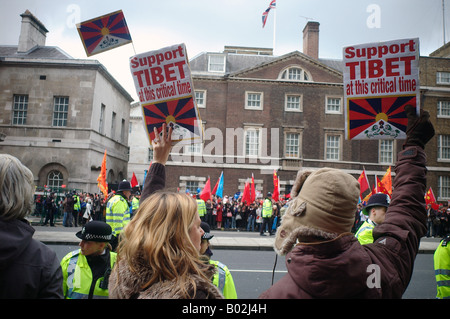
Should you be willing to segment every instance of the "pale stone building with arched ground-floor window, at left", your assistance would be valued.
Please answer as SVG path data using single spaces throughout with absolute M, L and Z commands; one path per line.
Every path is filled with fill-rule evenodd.
M 127 177 L 132 97 L 96 60 L 46 46 L 48 30 L 28 10 L 18 45 L 0 46 L 0 152 L 19 158 L 38 187 L 99 192 Z

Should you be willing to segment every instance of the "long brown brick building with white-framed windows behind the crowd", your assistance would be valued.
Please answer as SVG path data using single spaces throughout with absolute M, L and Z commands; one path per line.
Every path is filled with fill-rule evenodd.
M 298 170 L 324 166 L 356 178 L 365 169 L 371 184 L 392 166 L 395 178 L 393 166 L 403 140 L 345 140 L 342 60 L 319 58 L 318 37 L 319 23 L 308 22 L 303 52 L 274 56 L 272 49 L 225 46 L 223 52 L 204 52 L 190 60 L 205 141 L 173 149 L 167 163 L 169 189 L 196 193 L 208 177 L 214 187 L 223 171 L 224 194 L 242 191 L 252 174 L 257 191 L 265 194 L 273 191 L 277 170 L 283 194 L 290 191 Z M 429 186 L 446 201 L 450 59 L 438 51 L 439 57 L 420 57 L 421 103 L 438 132 L 426 149 Z M 138 103 L 132 112 L 130 141 L 141 136 L 145 145 L 137 149 L 130 144 L 129 177 L 133 171 L 142 182 L 152 150 L 143 138 Z

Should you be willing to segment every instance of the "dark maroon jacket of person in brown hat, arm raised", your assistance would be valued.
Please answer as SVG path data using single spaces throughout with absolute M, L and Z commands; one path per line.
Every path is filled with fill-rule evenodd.
M 399 153 L 391 204 L 361 245 L 351 233 L 298 243 L 286 254 L 288 274 L 260 298 L 401 298 L 426 232 L 426 156 L 419 147 Z

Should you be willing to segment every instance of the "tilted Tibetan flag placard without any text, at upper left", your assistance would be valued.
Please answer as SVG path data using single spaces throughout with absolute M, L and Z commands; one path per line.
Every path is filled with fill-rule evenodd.
M 132 42 L 122 10 L 77 24 L 87 56 Z

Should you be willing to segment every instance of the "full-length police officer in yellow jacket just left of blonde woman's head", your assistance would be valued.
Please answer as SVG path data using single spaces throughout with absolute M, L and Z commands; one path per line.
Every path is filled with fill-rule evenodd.
M 113 251 L 117 248 L 120 232 L 130 222 L 130 203 L 128 202 L 130 196 L 131 184 L 127 180 L 123 180 L 119 184 L 117 193 L 106 204 L 106 223 L 112 228 L 111 246 Z

